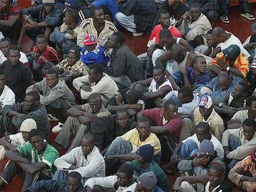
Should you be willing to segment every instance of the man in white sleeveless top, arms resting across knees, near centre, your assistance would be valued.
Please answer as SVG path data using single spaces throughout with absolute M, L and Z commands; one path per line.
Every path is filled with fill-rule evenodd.
M 158 65 L 153 68 L 153 78 L 136 81 L 130 85 L 130 89 L 137 90 L 143 94 L 143 99 L 149 104 L 151 102 L 151 105 L 161 107 L 160 100 L 170 91 L 173 91 L 173 86 L 170 81 L 165 78 L 163 65 Z

